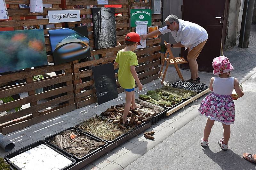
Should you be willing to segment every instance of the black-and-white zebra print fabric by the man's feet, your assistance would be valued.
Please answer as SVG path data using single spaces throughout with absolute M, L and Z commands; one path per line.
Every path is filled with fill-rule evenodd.
M 171 83 L 172 87 L 176 87 L 176 88 L 182 88 L 182 89 L 186 89 L 186 90 L 191 90 L 191 91 L 195 91 L 197 93 L 200 93 L 201 91 L 204 91 L 205 89 L 208 88 L 208 86 L 206 86 L 205 84 L 194 84 L 194 83 L 190 83 L 187 81 L 175 81 L 173 83 Z

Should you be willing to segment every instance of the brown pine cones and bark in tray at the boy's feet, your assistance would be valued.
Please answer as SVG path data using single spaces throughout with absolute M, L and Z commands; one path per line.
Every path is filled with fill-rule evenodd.
M 130 108 L 127 115 L 127 120 L 129 121 L 127 125 L 130 127 L 138 128 L 140 126 L 143 126 L 144 124 L 152 120 L 152 117 L 155 117 L 156 115 L 166 110 L 166 108 L 148 102 L 143 102 L 140 99 L 136 99 L 136 104 L 139 106 L 139 108 L 136 108 L 135 110 L 132 110 L 132 108 Z M 113 124 L 122 123 L 124 105 L 125 103 L 111 106 L 110 108 L 105 110 L 105 112 L 102 112 L 100 116 L 111 120 Z

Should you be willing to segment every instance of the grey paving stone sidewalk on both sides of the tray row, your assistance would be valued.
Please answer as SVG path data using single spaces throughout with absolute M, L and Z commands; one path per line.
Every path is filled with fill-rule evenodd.
M 237 42 L 238 44 L 238 42 Z M 224 55 L 227 56 L 234 66 L 234 71 L 231 76 L 236 77 L 240 83 L 247 80 L 256 72 L 256 25 L 252 25 L 250 44 L 249 48 L 239 48 L 237 46 L 229 48 L 224 51 Z M 190 78 L 189 70 L 181 70 L 184 79 Z M 210 78 L 213 76 L 211 73 L 200 72 L 199 77 L 202 83 L 206 85 L 209 84 Z M 166 74 L 166 82 L 178 81 L 178 75 L 174 67 L 169 67 Z M 148 90 L 156 89 L 161 87 L 161 80 L 157 79 L 143 85 L 143 90 L 136 92 L 136 98 L 139 94 L 146 94 Z M 138 88 L 136 88 L 137 90 Z M 206 96 L 206 95 L 204 95 Z M 193 103 L 186 105 L 180 110 L 174 112 L 169 117 L 160 120 L 157 124 L 152 125 L 148 130 L 154 130 L 155 140 L 148 140 L 144 138 L 143 133 L 138 136 L 133 137 L 128 140 L 123 145 L 117 146 L 112 151 L 103 155 L 102 157 L 96 159 L 91 164 L 86 166 L 84 170 L 97 170 L 97 169 L 123 169 L 128 166 L 134 160 L 139 158 L 141 155 L 145 154 L 148 150 L 152 149 L 158 143 L 161 143 L 165 138 L 170 136 L 172 133 L 177 131 L 179 128 L 187 124 L 190 120 L 198 115 L 197 109 L 201 100 L 204 96 L 198 98 Z M 119 97 L 115 100 L 109 101 L 107 103 L 98 105 L 97 103 L 85 106 L 83 108 L 73 110 L 67 114 L 61 115 L 59 117 L 54 117 L 47 121 L 29 126 L 27 128 L 21 129 L 20 131 L 15 131 L 10 134 L 5 135 L 14 144 L 15 148 L 12 151 L 20 149 L 24 146 L 32 144 L 38 140 L 44 140 L 44 138 L 55 134 L 59 131 L 65 130 L 81 121 L 88 119 L 96 114 L 99 115 L 101 112 L 106 110 L 111 105 L 120 104 L 125 102 L 125 93 L 120 93 Z M 0 150 L 2 157 L 9 152 L 4 152 Z

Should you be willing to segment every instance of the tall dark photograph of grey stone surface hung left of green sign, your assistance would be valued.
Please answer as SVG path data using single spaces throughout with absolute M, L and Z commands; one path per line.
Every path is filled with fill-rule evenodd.
M 92 8 L 95 49 L 116 46 L 115 8 Z

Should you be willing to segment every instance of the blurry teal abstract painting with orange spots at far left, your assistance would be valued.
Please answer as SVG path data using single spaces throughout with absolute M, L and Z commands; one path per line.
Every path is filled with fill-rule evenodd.
M 44 30 L 0 32 L 0 73 L 47 65 Z

